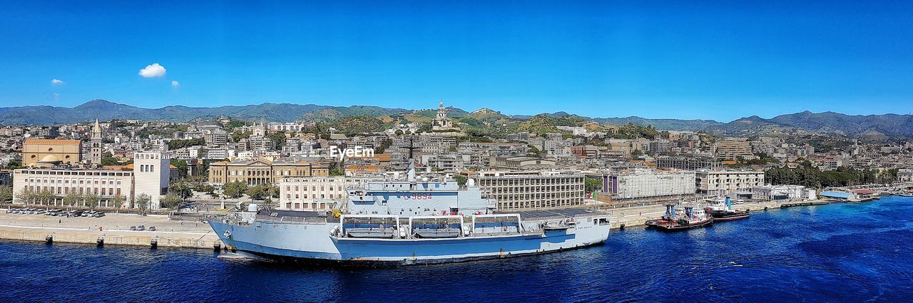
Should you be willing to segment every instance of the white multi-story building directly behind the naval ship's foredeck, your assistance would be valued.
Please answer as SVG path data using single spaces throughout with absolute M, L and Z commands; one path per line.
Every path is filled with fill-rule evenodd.
M 298 211 L 328 210 L 346 199 L 346 190 L 373 177 L 284 177 L 279 179 L 278 209 Z

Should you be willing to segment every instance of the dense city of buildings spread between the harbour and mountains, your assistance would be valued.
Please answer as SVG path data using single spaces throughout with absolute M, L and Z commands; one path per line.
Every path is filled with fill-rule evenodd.
M 429 178 L 477 179 L 504 210 L 618 207 L 697 196 L 808 199 L 798 187 L 820 193 L 913 180 L 908 141 L 826 133 L 719 137 L 550 115 L 523 120 L 520 129 L 526 131 L 496 135 L 467 122 L 491 124 L 471 119 L 488 116 L 498 123 L 490 119 L 497 112 L 477 110 L 456 121 L 447 113 L 442 102 L 436 110 L 407 114 L 421 122 L 401 115 L 5 126 L 0 198 L 148 210 L 177 210 L 199 198 L 330 211 L 341 206 L 347 188 L 400 176 L 410 162 Z M 331 156 L 347 148 L 371 153 Z M 517 185 L 505 188 L 489 179 Z M 563 185 L 556 192 L 530 180 Z

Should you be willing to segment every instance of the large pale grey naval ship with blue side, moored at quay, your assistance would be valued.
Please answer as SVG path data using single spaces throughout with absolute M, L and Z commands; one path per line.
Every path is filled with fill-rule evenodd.
M 209 220 L 231 250 L 340 265 L 412 265 L 542 254 L 601 245 L 609 214 L 582 209 L 501 213 L 472 179 L 364 183 L 335 217 L 246 212 Z

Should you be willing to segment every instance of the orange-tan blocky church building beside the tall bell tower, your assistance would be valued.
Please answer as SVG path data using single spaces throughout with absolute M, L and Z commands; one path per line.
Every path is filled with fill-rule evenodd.
M 24 166 L 51 167 L 82 162 L 79 140 L 26 139 L 22 146 Z

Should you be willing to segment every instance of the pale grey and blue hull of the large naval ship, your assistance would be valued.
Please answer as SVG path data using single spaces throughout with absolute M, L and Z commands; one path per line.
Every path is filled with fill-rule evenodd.
M 340 266 L 404 266 L 529 256 L 602 245 L 609 225 L 584 224 L 540 235 L 377 239 L 331 236 L 338 224 L 209 224 L 231 249 L 273 260 Z M 227 233 L 226 233 L 227 232 Z

